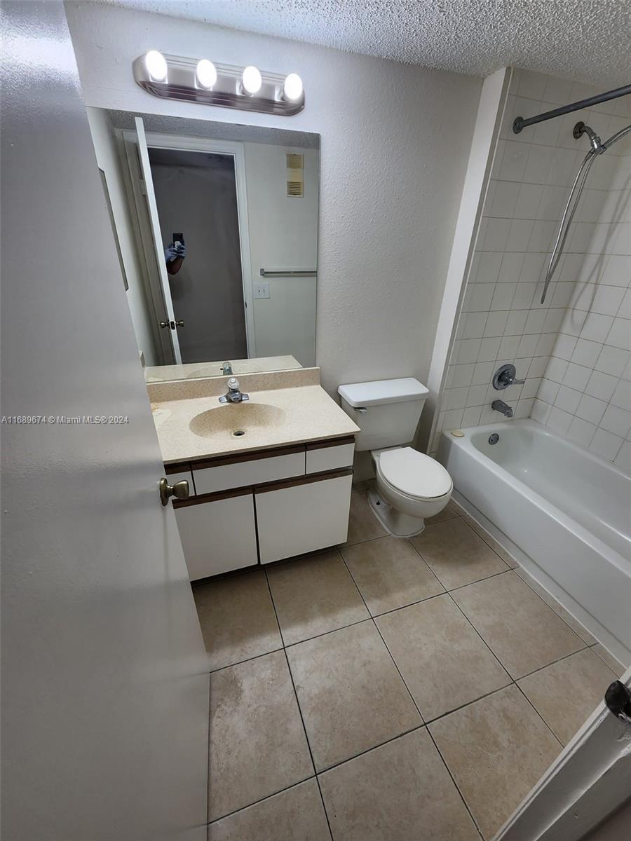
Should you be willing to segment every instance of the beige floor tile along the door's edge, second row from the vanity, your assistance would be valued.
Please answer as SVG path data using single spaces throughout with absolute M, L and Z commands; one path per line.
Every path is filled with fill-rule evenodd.
M 210 675 L 209 820 L 313 775 L 284 652 Z

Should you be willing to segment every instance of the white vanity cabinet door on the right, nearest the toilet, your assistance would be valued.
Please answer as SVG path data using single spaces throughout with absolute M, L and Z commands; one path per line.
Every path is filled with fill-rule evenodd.
M 255 495 L 261 563 L 343 543 L 348 532 L 353 472 L 303 479 Z

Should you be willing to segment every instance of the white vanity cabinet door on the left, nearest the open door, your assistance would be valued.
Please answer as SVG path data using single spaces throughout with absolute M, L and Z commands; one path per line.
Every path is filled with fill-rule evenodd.
M 191 581 L 258 563 L 252 491 L 173 508 Z

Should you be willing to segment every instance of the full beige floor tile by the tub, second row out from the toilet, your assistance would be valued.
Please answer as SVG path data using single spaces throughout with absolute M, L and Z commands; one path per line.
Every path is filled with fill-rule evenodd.
M 585 647 L 514 572 L 452 595 L 513 679 Z

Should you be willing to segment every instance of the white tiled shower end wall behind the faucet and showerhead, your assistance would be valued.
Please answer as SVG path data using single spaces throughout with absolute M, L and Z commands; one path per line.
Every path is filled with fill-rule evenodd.
M 567 243 L 568 257 L 540 304 L 549 250 L 588 149 L 586 138 L 575 140 L 572 128 L 582 119 L 608 137 L 628 123 L 628 103 L 612 100 L 519 135 L 513 134 L 512 121 L 594 93 L 599 92 L 588 85 L 513 71 L 431 452 L 445 429 L 503 421 L 490 409 L 493 399 L 504 399 L 516 417 L 533 411 L 618 164 L 618 154 L 608 152 L 592 167 Z M 527 382 L 497 392 L 491 378 L 505 362 L 512 362 L 517 377 Z

